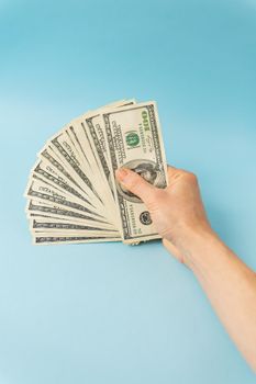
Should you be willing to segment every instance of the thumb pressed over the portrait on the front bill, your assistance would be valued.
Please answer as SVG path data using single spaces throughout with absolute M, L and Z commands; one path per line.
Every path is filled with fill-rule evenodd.
M 121 184 L 136 194 L 145 204 L 151 203 L 154 199 L 156 188 L 131 169 L 119 168 L 115 171 L 115 177 Z

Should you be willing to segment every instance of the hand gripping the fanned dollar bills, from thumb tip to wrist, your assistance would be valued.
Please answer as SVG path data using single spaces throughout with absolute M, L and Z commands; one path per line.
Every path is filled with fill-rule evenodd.
M 186 253 L 192 235 L 212 231 L 197 177 L 168 167 L 168 187 L 157 189 L 130 169 L 119 169 L 115 176 L 145 203 L 164 246 L 181 262 L 188 263 Z

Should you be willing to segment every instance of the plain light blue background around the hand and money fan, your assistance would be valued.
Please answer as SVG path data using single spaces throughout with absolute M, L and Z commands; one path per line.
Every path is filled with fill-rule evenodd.
M 62 125 L 153 99 L 168 161 L 256 268 L 255 68 L 255 0 L 0 0 L 0 384 L 255 383 L 160 242 L 34 247 L 23 199 Z

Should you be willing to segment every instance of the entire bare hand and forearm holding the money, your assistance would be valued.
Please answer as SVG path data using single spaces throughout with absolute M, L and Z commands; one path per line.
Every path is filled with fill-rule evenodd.
M 147 206 L 166 249 L 199 280 L 226 331 L 256 373 L 256 273 L 211 228 L 197 177 L 168 167 L 168 187 L 157 189 L 119 169 L 116 180 Z

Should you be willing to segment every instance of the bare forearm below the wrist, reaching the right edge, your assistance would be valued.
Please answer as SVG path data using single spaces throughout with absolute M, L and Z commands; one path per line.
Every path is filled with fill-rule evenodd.
M 227 332 L 256 371 L 256 273 L 210 230 L 190 233 L 182 253 Z

